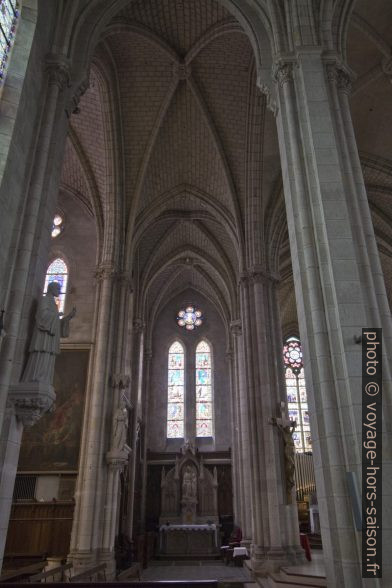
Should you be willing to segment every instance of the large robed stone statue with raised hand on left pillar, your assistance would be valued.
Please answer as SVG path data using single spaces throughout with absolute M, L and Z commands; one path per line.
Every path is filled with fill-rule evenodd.
M 60 353 L 60 337 L 69 336 L 69 323 L 76 314 L 74 307 L 68 315 L 60 318 L 55 301 L 60 293 L 60 284 L 51 282 L 46 295 L 39 301 L 22 382 L 53 384 L 54 362 Z

